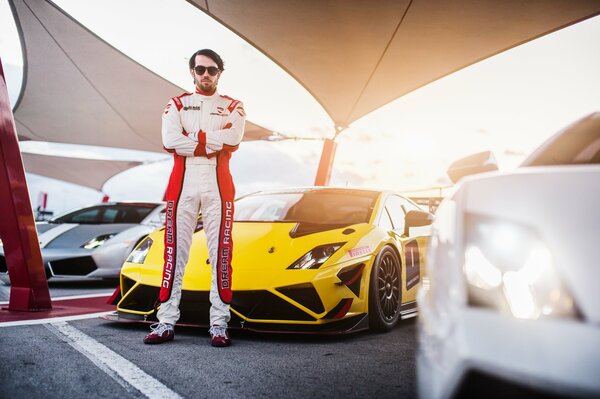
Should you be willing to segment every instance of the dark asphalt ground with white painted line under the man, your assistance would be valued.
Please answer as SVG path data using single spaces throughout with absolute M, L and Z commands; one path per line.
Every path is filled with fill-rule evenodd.
M 113 287 L 51 282 L 50 292 L 55 298 Z M 0 294 L 9 289 L 0 285 Z M 412 398 L 415 320 L 384 334 L 233 331 L 229 348 L 211 347 L 208 332 L 192 327 L 177 327 L 172 342 L 144 345 L 147 324 L 99 318 L 2 327 L 0 398 Z

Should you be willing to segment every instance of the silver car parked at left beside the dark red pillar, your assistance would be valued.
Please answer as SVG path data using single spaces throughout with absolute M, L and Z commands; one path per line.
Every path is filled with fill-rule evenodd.
M 162 202 L 112 202 L 76 209 L 37 223 L 49 280 L 119 276 L 131 250 L 164 224 Z M 9 283 L 0 245 L 0 280 Z

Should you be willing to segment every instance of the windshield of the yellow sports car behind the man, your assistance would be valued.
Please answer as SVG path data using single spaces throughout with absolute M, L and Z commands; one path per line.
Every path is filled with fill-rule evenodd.
M 259 193 L 235 203 L 235 220 L 314 224 L 366 223 L 379 193 L 359 190 L 309 190 Z

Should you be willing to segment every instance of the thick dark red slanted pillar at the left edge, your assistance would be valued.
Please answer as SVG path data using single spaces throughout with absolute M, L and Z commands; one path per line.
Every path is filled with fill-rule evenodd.
M 0 238 L 11 284 L 8 309 L 51 309 L 50 292 L 1 59 L 0 167 Z

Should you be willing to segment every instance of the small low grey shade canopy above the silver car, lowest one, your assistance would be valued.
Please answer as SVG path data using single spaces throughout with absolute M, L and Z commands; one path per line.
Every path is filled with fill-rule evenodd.
M 142 164 L 137 161 L 71 158 L 28 152 L 22 152 L 21 156 L 27 173 L 79 184 L 98 191 L 102 191 L 104 183 L 114 175 Z

